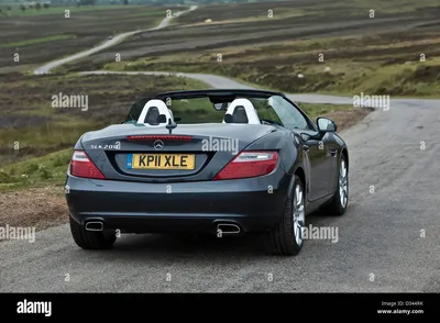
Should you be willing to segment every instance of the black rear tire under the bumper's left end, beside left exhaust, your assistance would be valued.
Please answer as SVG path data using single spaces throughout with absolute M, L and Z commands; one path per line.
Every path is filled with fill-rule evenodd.
M 111 248 L 117 241 L 116 232 L 94 232 L 86 231 L 70 218 L 70 233 L 75 243 L 82 249 L 108 249 Z

